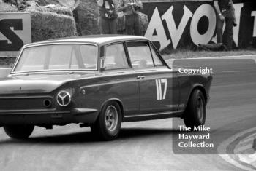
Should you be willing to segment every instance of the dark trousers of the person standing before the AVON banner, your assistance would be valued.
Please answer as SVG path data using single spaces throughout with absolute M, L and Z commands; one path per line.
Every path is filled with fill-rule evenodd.
M 225 17 L 225 20 L 217 20 L 217 42 L 225 45 L 227 50 L 232 49 L 233 44 L 233 11 L 230 9 L 226 12 L 222 12 L 222 15 Z M 226 24 L 224 33 L 222 33 L 224 22 Z

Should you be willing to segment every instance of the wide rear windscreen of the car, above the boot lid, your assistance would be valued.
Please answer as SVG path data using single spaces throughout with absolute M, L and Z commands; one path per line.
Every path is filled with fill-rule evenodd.
M 28 47 L 14 72 L 55 70 L 97 70 L 97 46 L 91 44 L 50 44 Z

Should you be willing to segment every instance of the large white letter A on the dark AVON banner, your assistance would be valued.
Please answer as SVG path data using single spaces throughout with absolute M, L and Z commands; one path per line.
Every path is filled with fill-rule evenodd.
M 154 35 L 154 32 L 156 32 L 157 35 Z M 164 49 L 165 47 L 168 46 L 168 44 L 170 44 L 170 40 L 167 39 L 165 28 L 162 25 L 162 20 L 159 15 L 157 7 L 154 9 L 154 12 L 151 17 L 150 23 L 148 24 L 148 28 L 146 30 L 145 36 L 151 41 L 159 41 L 160 50 Z

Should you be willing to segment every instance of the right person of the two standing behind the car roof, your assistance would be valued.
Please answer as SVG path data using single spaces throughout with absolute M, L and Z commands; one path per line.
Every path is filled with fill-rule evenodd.
M 143 8 L 140 0 L 119 0 L 119 12 L 124 12 L 126 33 L 140 36 L 139 9 Z

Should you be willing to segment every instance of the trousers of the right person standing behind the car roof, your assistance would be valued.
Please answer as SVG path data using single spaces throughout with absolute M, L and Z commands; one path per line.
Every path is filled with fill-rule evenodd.
M 125 15 L 125 23 L 128 35 L 140 36 L 140 19 L 138 14 Z

